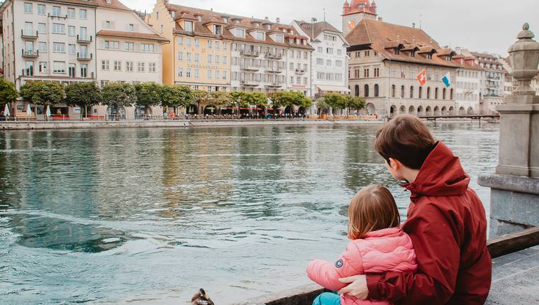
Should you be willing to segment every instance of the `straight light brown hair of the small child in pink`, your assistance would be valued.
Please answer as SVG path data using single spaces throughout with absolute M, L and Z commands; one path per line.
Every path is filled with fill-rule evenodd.
M 400 223 L 395 199 L 382 185 L 363 188 L 348 206 L 348 235 L 352 239 L 364 238 L 372 231 L 395 228 Z

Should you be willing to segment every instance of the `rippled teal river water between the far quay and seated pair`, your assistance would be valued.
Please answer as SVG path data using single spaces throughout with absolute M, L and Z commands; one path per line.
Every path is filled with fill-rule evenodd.
M 0 133 L 1 304 L 216 304 L 309 282 L 344 250 L 361 187 L 406 194 L 374 152 L 378 126 Z M 477 175 L 496 125 L 438 124 Z M 487 206 L 488 209 L 488 206 Z

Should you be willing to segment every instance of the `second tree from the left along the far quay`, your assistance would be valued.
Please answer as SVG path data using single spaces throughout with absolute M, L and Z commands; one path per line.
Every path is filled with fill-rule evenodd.
M 41 106 L 60 104 L 65 97 L 64 87 L 58 82 L 27 82 L 20 91 L 24 100 Z

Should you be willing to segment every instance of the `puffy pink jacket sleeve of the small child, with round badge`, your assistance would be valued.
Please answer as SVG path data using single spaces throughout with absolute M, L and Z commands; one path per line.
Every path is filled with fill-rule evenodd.
M 355 248 L 355 245 L 348 246 L 351 247 Z M 322 287 L 337 291 L 347 285 L 339 282 L 340 278 L 362 274 L 362 267 L 358 266 L 361 262 L 359 255 L 358 251 L 347 250 L 333 264 L 324 260 L 313 260 L 307 265 L 307 276 Z

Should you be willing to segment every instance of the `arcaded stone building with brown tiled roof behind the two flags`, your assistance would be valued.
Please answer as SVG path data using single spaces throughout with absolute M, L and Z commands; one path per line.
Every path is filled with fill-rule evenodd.
M 363 19 L 346 36 L 349 84 L 354 96 L 367 101 L 367 113 L 394 116 L 411 113 L 432 116 L 455 113 L 455 81 L 460 65 L 455 52 L 441 48 L 418 28 Z M 417 76 L 426 70 L 426 84 Z

